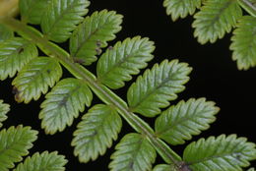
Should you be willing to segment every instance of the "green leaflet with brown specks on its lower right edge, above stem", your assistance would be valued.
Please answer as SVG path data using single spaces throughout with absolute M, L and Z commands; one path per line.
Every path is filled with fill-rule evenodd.
M 102 10 L 87 17 L 70 38 L 71 56 L 84 65 L 91 65 L 101 48 L 106 47 L 107 41 L 114 39 L 115 33 L 121 30 L 121 23 L 122 16 L 114 11 Z

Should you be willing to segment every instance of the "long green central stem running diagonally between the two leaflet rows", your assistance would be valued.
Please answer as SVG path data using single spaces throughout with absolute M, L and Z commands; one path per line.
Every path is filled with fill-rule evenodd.
M 157 138 L 154 130 L 145 121 L 134 113 L 130 112 L 125 101 L 123 101 L 105 85 L 99 84 L 96 80 L 96 76 L 80 64 L 75 63 L 65 50 L 45 39 L 38 30 L 28 27 L 20 21 L 8 18 L 0 20 L 0 23 L 12 28 L 27 39 L 32 40 L 32 42 L 36 43 L 36 45 L 46 55 L 57 58 L 71 74 L 73 74 L 76 78 L 87 82 L 87 84 L 93 89 L 93 91 L 102 101 L 104 101 L 106 104 L 114 105 L 120 115 L 131 125 L 134 130 L 147 137 L 147 139 L 159 151 L 165 162 L 174 163 L 176 166 L 180 165 L 182 161 L 181 157 L 171 148 L 169 148 L 165 142 L 162 142 L 159 138 Z

